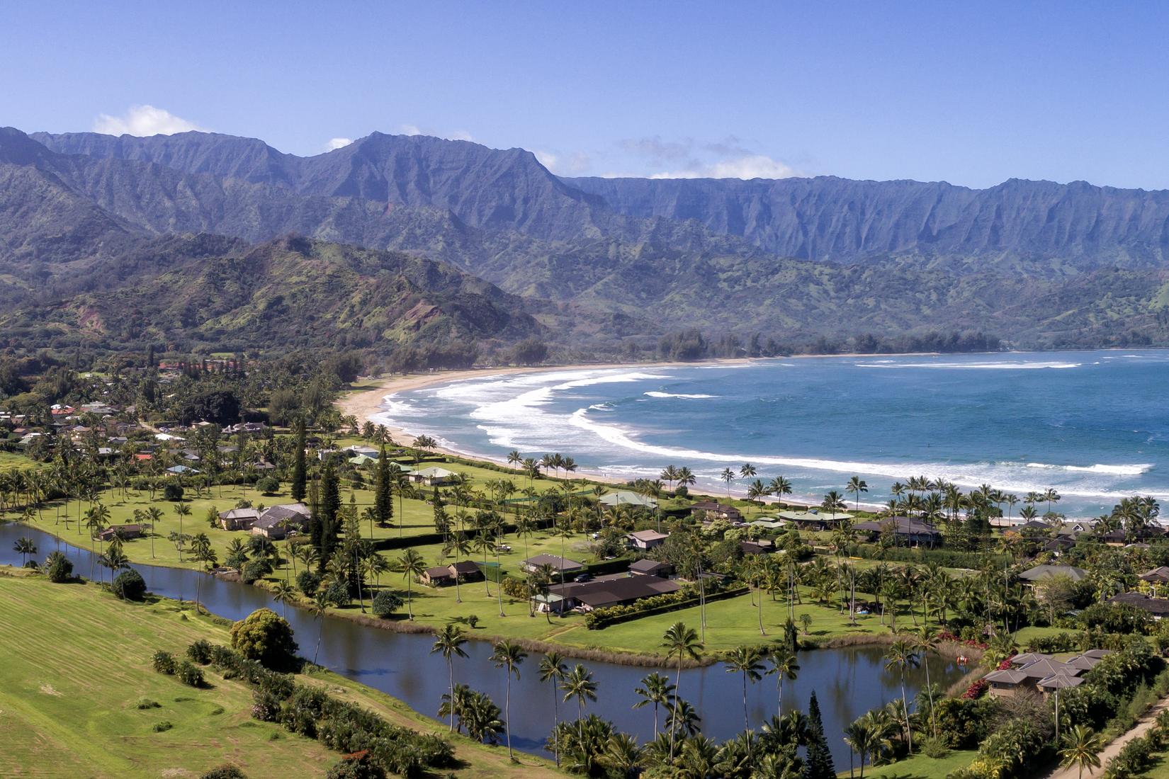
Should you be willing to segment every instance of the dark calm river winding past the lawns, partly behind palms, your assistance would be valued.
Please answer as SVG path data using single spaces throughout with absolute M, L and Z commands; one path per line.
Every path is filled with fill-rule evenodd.
M 20 564 L 20 555 L 13 550 L 13 543 L 22 536 L 35 541 L 39 561 L 60 544 L 61 551 L 72 561 L 75 572 L 89 576 L 92 561 L 89 550 L 70 545 L 68 538 L 58 542 L 50 534 L 15 523 L 0 524 L 0 564 Z M 184 569 L 143 564 L 136 564 L 134 569 L 146 579 L 151 592 L 167 598 L 193 599 L 199 582 L 201 604 L 228 619 L 242 619 L 264 606 L 277 613 L 283 611 L 260 587 Z M 317 620 L 307 612 L 292 607 L 288 610 L 288 619 L 296 631 L 302 655 L 312 658 L 319 635 L 318 662 L 321 666 L 382 690 L 422 714 L 436 715 L 447 691 L 447 666 L 442 655 L 430 653 L 430 635 L 396 633 L 341 617 Z M 486 693 L 503 708 L 504 673 L 490 661 L 491 646 L 486 641 L 471 641 L 465 649 L 469 656 L 455 662 L 455 681 Z M 802 652 L 798 677 L 783 684 L 786 711 L 795 707 L 807 709 L 809 696 L 816 693 L 838 770 L 849 764 L 849 749 L 841 736 L 844 726 L 869 709 L 901 694 L 897 674 L 884 668 L 883 654 L 880 647 Z M 555 712 L 552 689 L 539 681 L 538 662 L 537 655 L 530 656 L 520 666 L 519 681 L 512 682 L 512 743 L 517 749 L 546 756 L 542 746 Z M 583 665 L 593 672 L 597 683 L 597 701 L 589 704 L 586 714 L 594 712 L 613 721 L 618 730 L 635 735 L 643 744 L 651 740 L 652 707 L 635 710 L 632 705 L 638 700 L 634 689 L 653 669 L 596 661 L 584 661 Z M 929 660 L 929 675 L 945 689 L 961 677 L 962 669 L 949 659 L 935 656 Z M 924 669 L 911 672 L 907 694 L 912 697 L 924 683 Z M 721 663 L 684 670 L 682 696 L 701 716 L 704 735 L 725 740 L 742 729 L 742 682 L 738 674 L 728 674 Z M 747 710 L 752 726 L 758 728 L 775 714 L 775 704 L 774 676 L 748 684 Z M 575 702 L 567 705 L 560 703 L 561 718 L 575 717 Z

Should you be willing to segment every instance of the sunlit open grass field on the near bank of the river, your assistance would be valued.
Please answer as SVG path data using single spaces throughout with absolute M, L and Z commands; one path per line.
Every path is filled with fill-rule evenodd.
M 7 573 L 6 573 L 7 571 Z M 227 630 L 180 612 L 173 601 L 126 604 L 95 585 L 54 585 L 0 569 L 0 775 L 198 777 L 231 761 L 255 778 L 323 775 L 337 759 L 314 740 L 251 719 L 251 691 L 208 673 L 193 689 L 155 674 L 157 648 L 181 653 L 195 639 L 228 642 Z M 327 684 L 395 724 L 445 733 L 404 704 L 331 673 Z M 146 698 L 159 708 L 139 710 Z M 167 721 L 173 728 L 154 732 Z M 555 775 L 521 754 L 454 739 L 465 767 L 456 775 Z

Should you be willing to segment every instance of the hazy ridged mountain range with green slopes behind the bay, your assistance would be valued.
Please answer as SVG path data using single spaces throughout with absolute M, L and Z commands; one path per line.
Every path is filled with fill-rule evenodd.
M 84 331 L 62 313 L 78 311 L 78 294 L 92 307 L 111 297 L 101 290 L 158 300 L 201 287 L 219 265 L 191 250 L 193 238 L 167 241 L 198 234 L 237 239 L 214 244 L 216 259 L 231 257 L 237 280 L 255 265 L 269 295 L 304 283 L 306 259 L 341 262 L 348 280 L 313 287 L 300 305 L 320 306 L 345 329 L 360 319 L 341 305 L 358 287 L 362 306 L 393 298 L 381 319 L 353 331 L 369 348 L 421 339 L 407 317 L 419 304 L 447 318 L 427 338 L 448 340 L 652 342 L 698 328 L 791 346 L 926 331 L 982 331 L 1028 347 L 1169 342 L 1167 192 L 1019 180 L 975 190 L 830 176 L 562 179 L 524 149 L 421 135 L 373 133 L 299 158 L 215 133 L 0 131 L 0 284 L 23 300 L 12 315 L 22 327 L 44 326 L 51 309 L 55 338 Z M 251 248 L 290 234 L 314 242 Z M 375 251 L 357 262 L 359 252 L 327 243 L 461 270 L 411 265 L 403 292 L 389 279 L 407 258 Z M 144 249 L 152 245 L 165 249 Z M 431 288 L 431 276 L 445 280 Z M 221 335 L 258 346 L 270 325 L 242 314 L 262 302 L 258 287 L 227 288 L 241 314 Z M 451 291 L 472 288 L 479 297 L 461 298 L 459 308 Z M 138 328 L 213 338 L 215 327 L 164 313 L 172 304 L 150 307 Z M 480 305 L 492 311 L 473 315 Z

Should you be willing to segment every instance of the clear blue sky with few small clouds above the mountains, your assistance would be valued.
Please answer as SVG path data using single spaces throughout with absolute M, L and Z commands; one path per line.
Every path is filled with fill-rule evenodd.
M 560 175 L 1169 188 L 1169 4 L 11 4 L 0 125 L 424 133 Z

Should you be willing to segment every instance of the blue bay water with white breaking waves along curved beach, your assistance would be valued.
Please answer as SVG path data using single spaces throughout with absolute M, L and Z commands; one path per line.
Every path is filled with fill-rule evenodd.
M 749 462 L 796 501 L 859 475 L 877 505 L 926 475 L 1021 500 L 1054 488 L 1086 517 L 1169 500 L 1167 398 L 1162 350 L 804 357 L 475 377 L 388 396 L 379 418 L 494 460 L 560 452 L 620 479 L 689 466 L 715 494 Z

